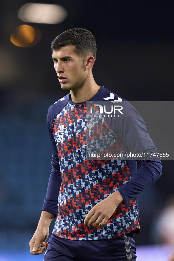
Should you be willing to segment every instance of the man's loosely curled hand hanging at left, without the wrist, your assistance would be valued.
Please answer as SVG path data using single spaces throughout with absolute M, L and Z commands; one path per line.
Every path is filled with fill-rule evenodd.
M 34 233 L 31 241 L 29 242 L 30 245 L 30 252 L 33 255 L 42 254 L 48 247 L 48 242 L 45 243 L 49 236 L 49 229 L 37 229 Z

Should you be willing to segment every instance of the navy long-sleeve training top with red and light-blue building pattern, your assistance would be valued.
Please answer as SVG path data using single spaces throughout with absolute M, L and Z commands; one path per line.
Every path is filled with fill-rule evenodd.
M 53 233 L 72 240 L 139 233 L 138 195 L 160 177 L 162 167 L 137 110 L 100 86 L 87 102 L 74 103 L 70 94 L 55 102 L 47 126 L 52 171 L 42 210 L 57 216 Z M 116 190 L 124 202 L 106 225 L 84 225 L 91 208 Z

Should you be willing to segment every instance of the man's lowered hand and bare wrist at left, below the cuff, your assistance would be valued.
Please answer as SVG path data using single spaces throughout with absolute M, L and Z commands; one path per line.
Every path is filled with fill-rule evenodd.
M 42 211 L 37 230 L 29 242 L 31 254 L 39 255 L 47 249 L 48 242 L 46 243 L 46 240 L 49 236 L 49 225 L 53 217 L 53 214 Z

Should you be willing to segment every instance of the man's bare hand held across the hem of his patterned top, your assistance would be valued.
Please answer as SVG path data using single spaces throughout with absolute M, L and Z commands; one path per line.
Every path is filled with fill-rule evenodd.
M 85 215 L 84 224 L 88 224 L 90 227 L 95 222 L 94 227 L 103 227 L 121 202 L 123 202 L 123 198 L 120 192 L 113 192 L 107 198 L 92 207 L 89 213 Z

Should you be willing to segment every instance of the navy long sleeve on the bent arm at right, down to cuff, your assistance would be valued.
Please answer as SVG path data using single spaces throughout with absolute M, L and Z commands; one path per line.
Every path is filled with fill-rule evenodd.
M 160 158 L 157 157 L 157 149 L 145 123 L 134 107 L 130 107 L 127 117 L 113 121 L 112 128 L 122 142 L 124 152 L 135 153 L 137 155 L 135 160 L 140 165 L 135 173 L 131 173 L 130 180 L 117 189 L 126 203 L 150 187 L 160 177 L 162 164 Z M 147 155 L 155 156 L 147 157 Z

